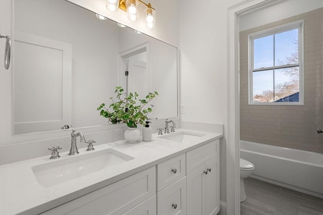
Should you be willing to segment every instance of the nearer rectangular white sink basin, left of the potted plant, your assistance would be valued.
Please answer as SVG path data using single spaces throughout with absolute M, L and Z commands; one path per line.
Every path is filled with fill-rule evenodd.
M 44 187 L 57 185 L 90 173 L 134 159 L 113 149 L 106 149 L 64 160 L 33 166 L 38 183 Z

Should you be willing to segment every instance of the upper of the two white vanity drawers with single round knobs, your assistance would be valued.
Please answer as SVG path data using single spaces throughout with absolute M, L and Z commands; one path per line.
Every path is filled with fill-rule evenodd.
M 157 191 L 186 175 L 185 153 L 157 165 Z

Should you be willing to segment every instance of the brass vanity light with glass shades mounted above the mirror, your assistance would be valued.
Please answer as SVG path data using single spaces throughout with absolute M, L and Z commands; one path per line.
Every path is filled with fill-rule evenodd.
M 127 12 L 128 19 L 136 21 L 139 17 L 139 3 L 146 6 L 144 16 L 147 28 L 154 28 L 156 22 L 156 11 L 151 4 L 144 3 L 141 0 L 106 0 L 106 8 L 110 11 L 117 11 L 118 8 Z

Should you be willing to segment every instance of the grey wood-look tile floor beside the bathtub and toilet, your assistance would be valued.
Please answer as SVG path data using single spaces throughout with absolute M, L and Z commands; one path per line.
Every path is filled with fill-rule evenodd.
M 323 199 L 254 178 L 244 179 L 241 215 L 323 215 Z

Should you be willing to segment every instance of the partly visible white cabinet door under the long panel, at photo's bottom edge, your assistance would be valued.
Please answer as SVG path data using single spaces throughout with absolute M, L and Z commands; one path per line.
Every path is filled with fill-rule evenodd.
M 122 215 L 156 215 L 156 195 L 153 195 Z

